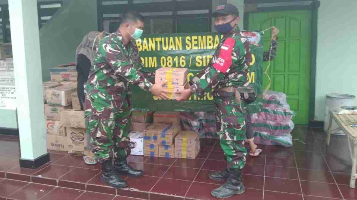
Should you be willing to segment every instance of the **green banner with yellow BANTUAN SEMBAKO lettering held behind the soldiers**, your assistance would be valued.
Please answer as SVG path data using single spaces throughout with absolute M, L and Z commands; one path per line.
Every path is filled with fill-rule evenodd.
M 261 32 L 243 32 L 243 35 L 251 41 L 253 60 L 250 63 L 248 79 L 255 86 L 258 94 L 257 101 L 251 105 L 259 106 L 262 99 L 263 35 Z M 218 33 L 144 34 L 136 44 L 140 51 L 141 62 L 145 65 L 143 71 L 155 72 L 161 67 L 187 68 L 187 78 L 191 80 L 210 62 L 221 38 Z M 156 100 L 150 92 L 145 92 L 135 85 L 131 86 L 131 91 L 132 110 L 214 111 L 211 93 L 201 99 L 192 95 L 189 100 L 178 102 Z

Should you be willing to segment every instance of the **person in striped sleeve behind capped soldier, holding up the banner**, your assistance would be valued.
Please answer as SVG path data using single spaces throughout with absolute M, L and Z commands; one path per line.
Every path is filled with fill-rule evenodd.
M 279 29 L 276 28 L 275 26 L 272 27 L 272 41 L 269 47 L 269 51 L 266 51 L 263 53 L 263 62 L 269 61 L 269 60 L 273 60 L 276 57 L 276 51 L 278 48 L 278 38 L 277 35 L 279 33 Z M 249 39 L 249 37 L 248 37 Z M 240 96 L 244 96 L 244 95 L 248 95 L 246 93 L 240 93 Z M 257 145 L 254 143 L 254 131 L 253 131 L 253 127 L 251 125 L 251 115 L 248 113 L 246 107 L 247 104 L 250 104 L 251 102 L 255 101 L 257 96 L 254 95 L 250 95 L 251 97 L 254 97 L 254 99 L 251 99 L 250 101 L 247 101 L 245 98 L 241 98 L 242 100 L 242 107 L 243 110 L 245 110 L 246 113 L 246 137 L 247 140 L 245 142 L 247 142 L 250 146 L 250 152 L 249 155 L 253 156 L 253 157 L 257 157 L 259 156 L 259 154 L 262 152 L 262 149 L 257 149 Z

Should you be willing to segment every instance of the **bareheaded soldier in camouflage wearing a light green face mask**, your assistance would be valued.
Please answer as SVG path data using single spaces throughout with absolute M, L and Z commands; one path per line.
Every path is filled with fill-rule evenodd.
M 135 40 L 143 32 L 143 21 L 135 11 L 123 16 L 119 29 L 100 42 L 85 86 L 86 133 L 91 136 L 92 151 L 103 167 L 101 180 L 115 188 L 127 186 L 120 175 L 142 175 L 141 170 L 133 169 L 126 161 L 130 154 L 129 84 L 139 85 L 159 99 L 169 99 L 162 84 L 153 85 L 139 71 L 142 65 Z

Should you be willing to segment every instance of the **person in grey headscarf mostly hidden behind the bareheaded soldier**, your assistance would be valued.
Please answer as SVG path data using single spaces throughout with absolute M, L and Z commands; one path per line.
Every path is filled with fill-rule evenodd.
M 85 94 L 84 94 L 84 84 L 87 82 L 89 72 L 94 62 L 94 55 L 97 51 L 99 41 L 101 41 L 107 33 L 91 31 L 84 36 L 82 42 L 76 49 L 76 70 L 78 73 L 77 77 L 77 94 L 79 103 L 81 105 L 81 110 L 84 109 Z M 87 137 L 87 143 L 90 143 L 90 137 Z M 90 147 L 86 147 L 90 149 Z M 84 156 L 84 162 L 86 164 L 96 164 L 94 157 Z

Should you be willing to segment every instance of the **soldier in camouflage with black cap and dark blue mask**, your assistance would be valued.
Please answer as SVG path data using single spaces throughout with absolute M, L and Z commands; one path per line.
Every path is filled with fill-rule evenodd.
M 247 73 L 252 56 L 250 42 L 242 36 L 238 28 L 240 20 L 238 16 L 238 9 L 232 4 L 217 7 L 213 13 L 215 28 L 224 37 L 218 44 L 211 62 L 191 82 L 191 88 L 179 91 L 178 93 L 181 96 L 176 99 L 184 101 L 193 93 L 203 96 L 213 89 L 217 134 L 227 159 L 226 170 L 210 173 L 210 178 L 213 180 L 227 180 L 224 185 L 212 190 L 211 194 L 217 198 L 227 198 L 245 192 L 242 183 L 242 169 L 245 166 L 247 155 L 247 149 L 244 145 L 246 137 L 245 115 L 239 101 L 237 101 L 236 90 L 249 85 Z M 229 72 L 223 73 L 217 70 L 215 63 L 220 61 L 218 58 L 221 58 L 221 49 L 227 48 L 223 45 L 227 38 L 233 38 L 235 44 L 229 56 L 232 61 Z

